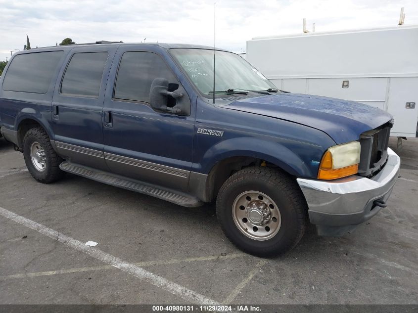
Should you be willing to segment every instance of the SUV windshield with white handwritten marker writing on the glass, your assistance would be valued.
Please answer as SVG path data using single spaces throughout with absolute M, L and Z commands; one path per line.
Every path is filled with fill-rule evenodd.
M 170 49 L 197 89 L 207 98 L 213 96 L 213 50 Z M 276 87 L 239 55 L 215 51 L 215 93 L 225 97 L 231 90 L 268 90 Z M 228 91 L 223 93 L 222 91 Z M 219 92 L 220 91 L 220 92 Z M 276 89 L 277 91 L 277 89 Z

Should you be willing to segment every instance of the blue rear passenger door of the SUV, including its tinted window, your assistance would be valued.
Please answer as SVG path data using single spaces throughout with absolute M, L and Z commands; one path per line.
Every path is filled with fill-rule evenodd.
M 73 163 L 106 170 L 102 107 L 117 46 L 79 47 L 61 69 L 51 115 L 57 152 Z

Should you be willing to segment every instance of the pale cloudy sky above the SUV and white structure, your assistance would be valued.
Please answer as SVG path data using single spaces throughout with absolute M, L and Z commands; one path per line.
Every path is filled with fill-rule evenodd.
M 418 0 L 217 0 L 216 46 L 242 52 L 253 37 L 418 24 Z M 0 0 L 0 60 L 71 38 L 213 45 L 213 0 Z

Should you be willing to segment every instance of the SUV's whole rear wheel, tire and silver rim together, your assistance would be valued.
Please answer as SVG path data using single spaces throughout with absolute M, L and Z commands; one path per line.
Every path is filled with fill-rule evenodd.
M 61 179 L 64 175 L 59 168 L 63 161 L 52 148 L 45 130 L 29 129 L 23 138 L 23 156 L 32 177 L 43 183 Z

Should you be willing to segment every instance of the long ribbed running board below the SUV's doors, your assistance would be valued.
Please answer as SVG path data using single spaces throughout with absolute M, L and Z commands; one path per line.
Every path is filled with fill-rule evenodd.
M 60 169 L 74 175 L 93 179 L 115 187 L 120 187 L 139 193 L 147 194 L 165 201 L 169 201 L 184 207 L 198 207 L 203 203 L 196 197 L 172 189 L 162 188 L 142 181 L 127 179 L 119 175 L 99 171 L 90 167 L 70 163 L 68 161 L 60 164 Z

